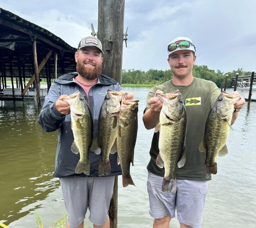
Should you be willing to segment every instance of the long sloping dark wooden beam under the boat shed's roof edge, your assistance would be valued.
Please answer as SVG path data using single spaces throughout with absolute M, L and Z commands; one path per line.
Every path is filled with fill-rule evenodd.
M 33 31 L 29 30 L 29 29 L 23 28 L 23 27 L 21 27 L 19 25 L 16 25 L 14 23 L 9 22 L 9 21 L 3 20 L 2 18 L 0 18 L 0 25 L 4 25 L 6 27 L 9 27 L 9 28 L 12 28 L 14 30 L 20 31 L 22 33 L 28 34 L 30 36 L 35 36 L 37 39 L 39 39 L 39 40 L 49 44 L 50 46 L 52 46 L 54 48 L 57 48 L 59 50 L 62 50 L 62 51 L 65 51 L 65 52 L 71 52 L 71 53 L 74 52 L 71 49 L 63 48 L 63 47 L 53 43 L 52 41 L 46 39 L 45 37 L 39 35 L 38 33 L 35 33 L 35 32 L 33 32 Z

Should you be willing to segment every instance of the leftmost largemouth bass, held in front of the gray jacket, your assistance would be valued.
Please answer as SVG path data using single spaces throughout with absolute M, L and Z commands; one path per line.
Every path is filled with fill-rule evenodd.
M 63 101 L 70 105 L 71 128 L 74 135 L 74 142 L 71 151 L 80 153 L 75 173 L 90 175 L 89 148 L 93 138 L 92 114 L 84 96 L 76 91 Z

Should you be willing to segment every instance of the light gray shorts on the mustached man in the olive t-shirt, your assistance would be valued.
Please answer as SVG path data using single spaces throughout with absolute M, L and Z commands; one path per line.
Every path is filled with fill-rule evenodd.
M 177 180 L 177 192 L 162 192 L 163 177 L 148 173 L 149 214 L 153 218 L 175 217 L 194 228 L 201 227 L 204 201 L 208 191 L 207 181 Z

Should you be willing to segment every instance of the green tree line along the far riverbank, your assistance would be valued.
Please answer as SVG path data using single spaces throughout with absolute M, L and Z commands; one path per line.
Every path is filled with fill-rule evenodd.
M 232 72 L 223 73 L 220 70 L 210 70 L 206 65 L 193 67 L 193 76 L 196 78 L 202 78 L 206 80 L 210 80 L 218 87 L 221 87 L 221 84 L 225 83 L 225 75 L 228 75 L 228 83 L 227 87 L 232 87 L 232 78 L 235 77 L 236 73 L 239 76 L 247 76 L 251 75 L 251 72 L 243 71 L 242 68 L 238 68 Z M 150 69 L 149 71 L 140 71 L 140 70 L 123 70 L 122 71 L 122 84 L 142 84 L 142 85 L 159 85 L 163 82 L 169 81 L 172 79 L 171 70 L 155 70 Z

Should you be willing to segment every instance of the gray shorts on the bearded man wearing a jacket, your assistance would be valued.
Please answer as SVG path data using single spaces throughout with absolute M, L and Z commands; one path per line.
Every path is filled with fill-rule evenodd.
M 84 221 L 87 208 L 89 220 L 102 226 L 108 218 L 115 176 L 60 178 L 70 228 Z

